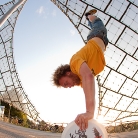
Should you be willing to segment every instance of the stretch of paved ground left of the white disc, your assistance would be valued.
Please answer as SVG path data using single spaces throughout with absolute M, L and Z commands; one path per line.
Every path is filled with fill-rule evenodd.
M 61 133 L 40 131 L 0 121 L 0 138 L 61 138 Z

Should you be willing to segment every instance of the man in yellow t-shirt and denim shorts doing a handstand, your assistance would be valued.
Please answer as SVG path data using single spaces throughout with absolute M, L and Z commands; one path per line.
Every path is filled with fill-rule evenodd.
M 94 76 L 105 67 L 104 51 L 108 45 L 107 30 L 102 20 L 95 15 L 95 9 L 85 14 L 91 28 L 87 44 L 70 59 L 70 64 L 59 66 L 52 80 L 57 87 L 71 88 L 81 86 L 85 95 L 86 112 L 77 115 L 75 123 L 81 130 L 88 127 L 88 120 L 94 117 L 95 79 Z

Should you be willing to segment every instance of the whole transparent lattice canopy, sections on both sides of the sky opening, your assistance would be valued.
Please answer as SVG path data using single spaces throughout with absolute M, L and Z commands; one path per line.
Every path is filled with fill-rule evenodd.
M 13 33 L 17 17 L 26 0 L 0 5 L 0 19 L 19 1 L 0 28 L 0 99 L 31 118 L 38 112 L 24 92 L 13 58 Z M 114 122 L 138 116 L 138 2 L 137 0 L 51 0 L 78 30 L 84 43 L 90 28 L 85 12 L 95 8 L 108 30 L 106 67 L 98 75 L 99 107 L 97 115 Z M 1 24 L 1 22 L 0 22 Z

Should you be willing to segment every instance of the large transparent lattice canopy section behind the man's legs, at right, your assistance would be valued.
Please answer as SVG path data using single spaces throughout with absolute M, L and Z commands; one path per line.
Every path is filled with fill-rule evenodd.
M 97 77 L 98 115 L 110 122 L 138 116 L 138 1 L 51 0 L 78 30 L 84 43 L 90 28 L 84 14 L 95 8 L 106 25 L 110 43 L 106 67 Z

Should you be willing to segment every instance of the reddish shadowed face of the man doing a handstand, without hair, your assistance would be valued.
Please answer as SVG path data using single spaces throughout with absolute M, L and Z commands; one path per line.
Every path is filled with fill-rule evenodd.
M 75 85 L 79 85 L 80 79 L 78 78 L 78 76 L 72 74 L 71 72 L 67 72 L 66 76 L 60 78 L 59 84 L 64 88 L 71 88 Z

